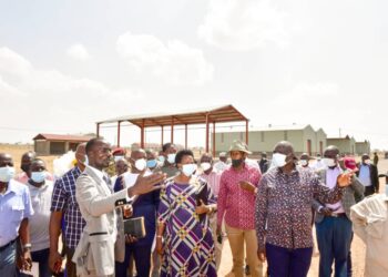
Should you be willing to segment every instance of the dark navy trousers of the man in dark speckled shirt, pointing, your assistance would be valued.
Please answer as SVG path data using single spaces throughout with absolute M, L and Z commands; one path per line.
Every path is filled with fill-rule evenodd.
M 265 246 L 270 277 L 306 277 L 312 264 L 313 247 L 288 249 Z

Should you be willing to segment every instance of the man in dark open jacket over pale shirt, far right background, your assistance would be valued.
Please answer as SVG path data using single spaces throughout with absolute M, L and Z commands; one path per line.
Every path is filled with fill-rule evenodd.
M 378 171 L 376 165 L 370 163 L 368 154 L 363 154 L 361 163 L 358 165 L 357 176 L 365 186 L 365 196 L 379 192 Z

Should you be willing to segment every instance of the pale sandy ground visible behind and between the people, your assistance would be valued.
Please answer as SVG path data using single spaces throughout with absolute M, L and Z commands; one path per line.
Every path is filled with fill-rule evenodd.
M 16 146 L 16 145 L 4 145 L 0 144 L 0 152 L 6 152 L 12 155 L 14 160 L 14 166 L 20 172 L 20 157 L 21 155 L 32 150 L 32 146 Z M 50 172 L 52 172 L 52 161 L 55 158 L 55 156 L 43 156 L 42 157 L 47 162 L 47 167 Z M 380 157 L 380 162 L 378 164 L 379 173 L 386 173 L 388 172 L 388 160 L 382 160 Z M 385 189 L 385 179 L 380 178 L 380 193 L 384 193 Z M 361 277 L 364 275 L 364 267 L 365 267 L 365 245 L 364 243 L 355 235 L 353 244 L 351 244 L 351 257 L 353 257 L 353 268 L 354 268 L 354 277 Z M 308 276 L 309 277 L 316 277 L 318 276 L 318 264 L 319 264 L 319 257 L 313 257 L 312 267 L 309 270 Z M 218 276 L 233 276 L 231 273 L 232 269 L 232 253 L 231 247 L 228 245 L 227 239 L 224 243 L 223 248 L 223 257 L 221 267 L 218 270 Z

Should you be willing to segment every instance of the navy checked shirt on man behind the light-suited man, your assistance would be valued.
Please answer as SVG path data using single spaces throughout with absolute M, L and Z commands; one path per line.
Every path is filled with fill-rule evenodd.
M 80 240 L 85 222 L 75 199 L 75 181 L 81 175 L 79 167 L 67 172 L 54 184 L 51 212 L 63 212 L 65 246 L 74 249 Z

